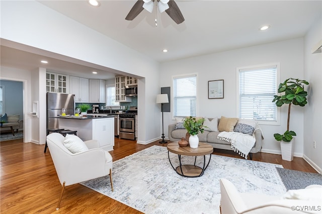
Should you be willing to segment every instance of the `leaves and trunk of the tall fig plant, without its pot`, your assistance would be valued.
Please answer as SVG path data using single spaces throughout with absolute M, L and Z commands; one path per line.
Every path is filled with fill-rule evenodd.
M 289 131 L 291 105 L 304 106 L 307 103 L 307 92 L 304 90 L 304 84 L 308 85 L 309 83 L 301 79 L 288 78 L 278 86 L 278 92 L 281 95 L 274 95 L 272 102 L 275 102 L 278 107 L 281 107 L 283 104 L 288 104 L 288 114 L 286 132 L 282 135 L 278 133 L 274 134 L 274 138 L 277 141 L 283 140 L 284 142 L 290 142 L 293 136 L 296 136 L 294 131 Z

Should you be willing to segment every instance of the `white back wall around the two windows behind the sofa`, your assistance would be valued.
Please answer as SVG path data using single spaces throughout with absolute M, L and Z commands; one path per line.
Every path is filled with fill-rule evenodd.
M 197 116 L 236 117 L 236 68 L 280 62 L 280 79 L 300 78 L 303 74 L 303 38 L 258 45 L 221 53 L 214 53 L 189 59 L 163 63 L 159 76 L 161 87 L 172 86 L 173 75 L 198 73 Z M 224 98 L 208 99 L 208 81 L 224 79 Z M 297 134 L 295 155 L 303 153 L 303 108 L 292 106 L 290 129 Z M 174 124 L 172 113 L 165 113 L 165 128 Z M 261 125 L 264 133 L 264 152 L 280 154 L 280 145 L 274 133 L 284 133 L 287 124 L 287 108 L 281 108 L 281 123 L 278 126 Z M 295 125 L 296 124 L 296 125 Z M 165 133 L 168 136 L 168 132 Z

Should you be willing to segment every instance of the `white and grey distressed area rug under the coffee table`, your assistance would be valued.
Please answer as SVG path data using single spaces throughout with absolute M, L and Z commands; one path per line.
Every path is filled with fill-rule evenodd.
M 179 165 L 178 156 L 170 154 Z M 193 164 L 194 157 L 183 158 L 183 164 Z M 197 157 L 197 165 L 202 163 Z M 113 192 L 108 176 L 81 184 L 144 213 L 219 213 L 219 178 L 240 192 L 280 195 L 286 189 L 276 167 L 282 166 L 212 155 L 201 177 L 187 178 L 171 167 L 166 147 L 152 146 L 113 162 Z

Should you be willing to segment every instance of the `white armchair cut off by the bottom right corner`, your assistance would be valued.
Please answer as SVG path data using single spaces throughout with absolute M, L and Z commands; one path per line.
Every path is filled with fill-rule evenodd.
M 321 188 L 321 185 L 311 185 Z M 306 188 L 311 188 L 310 186 Z M 306 190 L 305 188 L 305 190 Z M 220 178 L 220 213 L 320 213 L 321 201 L 303 199 L 283 199 L 281 196 L 272 196 L 255 193 L 240 193 L 227 179 Z M 312 208 L 305 207 L 315 207 Z

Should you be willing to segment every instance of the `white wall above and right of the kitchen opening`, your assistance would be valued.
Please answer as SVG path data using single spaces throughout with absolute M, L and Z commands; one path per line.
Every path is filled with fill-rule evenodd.
M 159 123 L 148 120 L 158 110 L 154 100 L 159 89 L 157 62 L 36 1 L 2 1 L 1 21 L 1 37 L 9 47 L 53 58 L 61 54 L 144 77 L 138 83 L 138 140 L 144 143 L 160 136 L 155 131 Z

